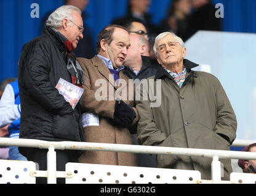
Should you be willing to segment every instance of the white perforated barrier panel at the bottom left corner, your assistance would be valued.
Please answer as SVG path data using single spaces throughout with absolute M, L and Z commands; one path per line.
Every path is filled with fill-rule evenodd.
M 23 160 L 0 160 L 0 184 L 35 184 L 30 173 L 36 171 L 36 164 Z

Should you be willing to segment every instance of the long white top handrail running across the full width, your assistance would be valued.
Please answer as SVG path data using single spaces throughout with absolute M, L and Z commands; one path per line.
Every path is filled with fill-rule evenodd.
M 141 145 L 121 145 L 110 143 L 91 143 L 77 141 L 44 141 L 22 138 L 0 138 L 0 145 L 20 146 L 49 149 L 54 146 L 55 149 L 74 149 L 74 150 L 92 150 L 92 151 L 114 151 L 125 153 L 144 153 L 144 154 L 172 154 L 182 156 L 214 157 L 220 159 L 253 159 L 256 160 L 256 153 L 240 151 L 223 151 L 216 149 L 198 149 L 198 148 L 175 148 L 164 146 L 141 146 Z

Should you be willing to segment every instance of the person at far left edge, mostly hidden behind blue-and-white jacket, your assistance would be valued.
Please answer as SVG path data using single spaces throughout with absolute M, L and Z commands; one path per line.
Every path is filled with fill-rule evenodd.
M 0 99 L 2 97 L 2 93 L 6 88 L 6 85 L 17 80 L 17 78 L 6 78 L 2 80 L 0 84 Z M 1 100 L 0 100 L 1 102 Z M 0 128 L 0 137 L 9 137 L 8 127 L 10 124 L 7 124 L 4 127 Z M 9 146 L 0 146 L 0 159 L 9 159 Z

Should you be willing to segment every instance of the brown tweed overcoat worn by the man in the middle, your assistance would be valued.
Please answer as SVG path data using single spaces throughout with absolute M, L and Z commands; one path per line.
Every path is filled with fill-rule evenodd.
M 119 72 L 119 84 L 116 85 L 110 70 L 98 56 L 94 56 L 92 59 L 78 58 L 78 62 L 84 71 L 85 77 L 85 83 L 82 85 L 84 88 L 81 97 L 81 106 L 84 110 L 82 112 L 94 113 L 98 115 L 100 121 L 100 126 L 84 127 L 86 142 L 134 144 L 128 128 L 113 126 L 110 121 L 114 118 L 116 97 L 119 97 L 134 108 L 137 117 L 132 125 L 137 123 L 138 113 L 134 107 L 135 88 L 132 86 L 133 84 L 130 85 L 129 92 L 129 79 L 122 72 Z M 116 93 L 116 96 L 114 96 L 114 93 Z M 85 151 L 79 158 L 79 162 L 137 166 L 134 153 L 108 151 Z

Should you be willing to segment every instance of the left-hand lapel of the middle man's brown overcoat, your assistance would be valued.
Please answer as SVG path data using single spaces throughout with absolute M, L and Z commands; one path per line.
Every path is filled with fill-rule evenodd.
M 106 78 L 106 80 L 116 89 L 115 81 L 113 75 L 110 73 L 110 70 L 108 67 L 106 67 L 105 63 L 102 61 L 102 59 L 98 58 L 98 56 L 94 56 L 92 58 L 92 64 L 97 67 L 98 72 L 100 72 L 103 77 Z

